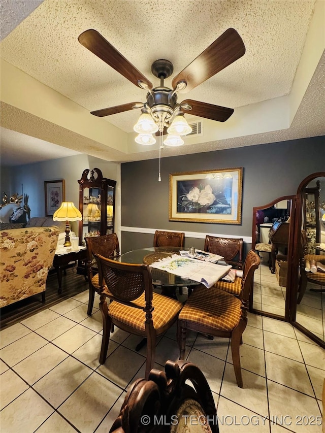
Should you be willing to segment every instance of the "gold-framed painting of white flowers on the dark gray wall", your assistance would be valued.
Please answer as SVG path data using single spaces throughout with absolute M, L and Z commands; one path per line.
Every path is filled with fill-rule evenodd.
M 241 224 L 243 168 L 169 175 L 169 220 Z

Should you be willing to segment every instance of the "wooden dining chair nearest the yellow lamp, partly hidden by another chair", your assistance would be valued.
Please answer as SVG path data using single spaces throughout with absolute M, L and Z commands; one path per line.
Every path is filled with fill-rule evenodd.
M 116 233 L 103 236 L 85 237 L 87 247 L 87 276 L 89 283 L 88 316 L 91 315 L 95 293 L 100 292 L 98 265 L 95 261 L 95 254 L 104 257 L 116 258 L 120 255 L 120 247 Z

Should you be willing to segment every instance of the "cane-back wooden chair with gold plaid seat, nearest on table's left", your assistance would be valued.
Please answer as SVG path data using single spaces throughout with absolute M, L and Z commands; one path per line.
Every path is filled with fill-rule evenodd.
M 111 326 L 147 339 L 145 378 L 152 368 L 156 338 L 177 320 L 183 304 L 176 299 L 152 291 L 152 276 L 147 264 L 121 263 L 96 255 L 99 275 L 100 310 L 103 317 L 103 338 L 100 363 L 104 364 Z M 107 304 L 106 299 L 111 302 Z

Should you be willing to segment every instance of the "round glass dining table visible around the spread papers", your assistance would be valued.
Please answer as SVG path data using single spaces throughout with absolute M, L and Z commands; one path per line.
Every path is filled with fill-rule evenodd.
M 123 263 L 151 264 L 159 259 L 171 257 L 173 254 L 179 254 L 179 251 L 187 250 L 186 248 L 179 247 L 148 247 L 124 253 L 116 260 Z M 226 265 L 223 260 L 219 260 L 218 264 Z M 182 278 L 156 268 L 151 268 L 151 275 L 153 285 L 162 287 L 198 286 L 200 284 L 198 281 Z

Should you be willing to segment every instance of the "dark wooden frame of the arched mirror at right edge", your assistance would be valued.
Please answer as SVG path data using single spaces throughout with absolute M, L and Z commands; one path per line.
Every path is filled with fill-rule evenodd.
M 295 197 L 296 209 L 293 208 L 291 213 L 291 224 L 294 224 L 294 230 L 291 230 L 292 237 L 290 236 L 289 242 L 291 246 L 291 251 L 295 251 L 300 243 L 300 233 L 302 226 L 302 215 L 304 206 L 304 191 L 307 185 L 316 178 L 325 177 L 325 172 L 317 172 L 307 176 L 299 185 L 297 190 L 297 195 Z M 319 346 L 325 349 L 325 342 L 318 338 L 313 332 L 305 328 L 299 322 L 296 322 L 296 312 L 297 312 L 297 288 L 299 282 L 299 257 L 293 255 L 291 257 L 291 266 L 288 267 L 288 280 L 290 281 L 290 301 L 289 301 L 289 322 L 293 324 L 297 329 L 299 329 L 303 334 L 309 337 L 312 341 L 317 343 Z M 296 288 L 296 289 L 295 289 Z

